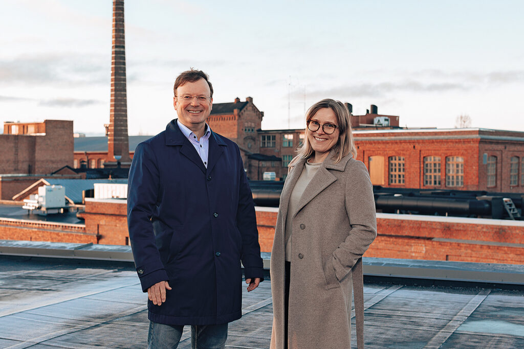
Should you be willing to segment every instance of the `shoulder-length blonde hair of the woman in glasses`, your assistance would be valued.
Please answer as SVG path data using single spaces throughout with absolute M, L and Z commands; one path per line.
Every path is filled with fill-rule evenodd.
M 333 145 L 333 148 L 331 148 L 333 150 L 333 160 L 335 163 L 341 161 L 342 158 L 349 153 L 351 153 L 353 157 L 356 157 L 357 149 L 351 131 L 351 113 L 344 103 L 330 98 L 316 102 L 308 109 L 308 112 L 305 113 L 306 123 L 322 108 L 330 108 L 333 110 L 337 125 L 339 126 L 339 140 Z M 308 132 L 311 131 L 306 127 L 304 141 L 302 146 L 297 150 L 297 154 L 304 159 L 308 159 L 308 157 L 314 153 L 311 143 L 309 143 Z

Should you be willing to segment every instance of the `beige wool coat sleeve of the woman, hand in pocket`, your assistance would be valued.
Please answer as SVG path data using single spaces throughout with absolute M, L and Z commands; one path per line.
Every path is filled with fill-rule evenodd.
M 377 236 L 377 218 L 373 185 L 361 161 L 348 163 L 346 169 L 345 208 L 350 220 L 347 238 L 333 252 L 333 268 L 341 280 L 362 257 Z

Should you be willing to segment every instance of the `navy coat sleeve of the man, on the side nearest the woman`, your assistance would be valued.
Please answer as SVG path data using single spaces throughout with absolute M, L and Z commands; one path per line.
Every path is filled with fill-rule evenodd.
M 259 277 L 264 280 L 264 269 L 262 258 L 260 257 L 260 244 L 258 243 L 257 219 L 255 215 L 255 204 L 253 194 L 247 182 L 246 172 L 240 150 L 238 150 L 238 210 L 236 214 L 236 224 L 238 231 L 242 235 L 242 255 L 241 260 L 244 265 L 244 275 L 246 279 Z

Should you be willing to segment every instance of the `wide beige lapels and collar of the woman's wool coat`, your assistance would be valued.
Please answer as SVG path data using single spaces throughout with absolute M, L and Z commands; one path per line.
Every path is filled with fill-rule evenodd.
M 335 163 L 333 160 L 333 155 L 333 151 L 331 151 L 328 154 L 328 157 L 326 157 L 326 159 L 322 162 L 322 165 L 316 171 L 313 178 L 311 178 L 311 181 L 305 188 L 304 193 L 302 194 L 302 197 L 299 200 L 297 212 L 299 212 L 305 205 L 307 205 L 308 202 L 311 201 L 315 196 L 319 195 L 322 192 L 322 190 L 324 190 L 336 181 L 337 177 L 334 174 L 332 174 L 329 170 L 344 171 L 347 162 L 350 161 L 350 159 L 352 158 L 352 155 L 348 154 L 344 156 L 340 162 Z M 287 212 L 287 209 L 289 206 L 291 191 L 297 184 L 298 178 L 302 174 L 302 170 L 305 166 L 306 160 L 307 159 L 303 159 L 302 157 L 297 156 L 288 165 L 290 172 L 289 176 L 286 178 L 286 182 L 289 181 L 289 184 L 286 186 L 285 190 L 282 191 L 282 195 L 280 198 L 282 213 L 291 213 L 293 216 L 297 213 Z

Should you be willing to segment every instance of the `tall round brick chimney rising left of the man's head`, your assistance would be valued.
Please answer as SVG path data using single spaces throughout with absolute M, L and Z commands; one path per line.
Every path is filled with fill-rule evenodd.
M 113 1 L 113 50 L 111 55 L 111 111 L 108 127 L 108 156 L 122 163 L 129 158 L 127 134 L 126 50 L 124 0 Z

